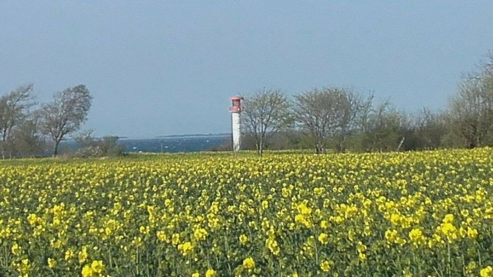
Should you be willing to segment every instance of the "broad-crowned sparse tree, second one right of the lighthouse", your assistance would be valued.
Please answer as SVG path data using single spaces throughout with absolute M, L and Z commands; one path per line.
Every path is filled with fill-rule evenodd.
M 315 153 L 324 153 L 329 137 L 340 134 L 337 145 L 345 147 L 361 97 L 345 88 L 313 89 L 295 95 L 294 114 L 301 130 L 313 141 Z

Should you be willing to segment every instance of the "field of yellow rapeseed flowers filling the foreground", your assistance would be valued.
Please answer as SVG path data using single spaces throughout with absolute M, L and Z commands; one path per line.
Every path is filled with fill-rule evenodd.
M 492 276 L 493 149 L 0 162 L 1 276 Z

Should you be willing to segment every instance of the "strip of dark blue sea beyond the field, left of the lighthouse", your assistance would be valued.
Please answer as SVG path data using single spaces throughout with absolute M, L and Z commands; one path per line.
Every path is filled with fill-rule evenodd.
M 231 139 L 231 134 L 174 135 L 146 138 L 120 138 L 118 144 L 125 152 L 177 153 L 200 152 L 219 147 Z M 72 140 L 62 141 L 61 151 L 77 149 Z

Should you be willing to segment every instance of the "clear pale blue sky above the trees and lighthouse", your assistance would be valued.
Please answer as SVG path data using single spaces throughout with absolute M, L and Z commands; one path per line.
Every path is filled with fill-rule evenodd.
M 231 131 L 229 96 L 324 86 L 440 110 L 493 49 L 491 1 L 0 1 L 0 94 L 85 84 L 84 129 Z

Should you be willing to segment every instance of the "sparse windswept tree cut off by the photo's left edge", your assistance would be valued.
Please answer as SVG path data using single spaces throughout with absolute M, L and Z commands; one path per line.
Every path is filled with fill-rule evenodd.
M 25 120 L 28 109 L 35 104 L 32 90 L 32 84 L 23 85 L 0 98 L 0 152 L 3 159 L 7 152 L 12 156 L 14 151 L 12 130 Z

